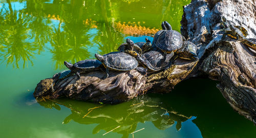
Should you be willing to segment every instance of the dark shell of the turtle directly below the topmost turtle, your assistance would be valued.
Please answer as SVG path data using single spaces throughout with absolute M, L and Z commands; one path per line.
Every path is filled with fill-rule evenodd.
M 146 63 L 147 67 L 152 71 L 160 71 L 168 68 L 172 62 L 164 62 L 164 55 L 162 52 L 150 51 L 141 55 L 141 58 Z

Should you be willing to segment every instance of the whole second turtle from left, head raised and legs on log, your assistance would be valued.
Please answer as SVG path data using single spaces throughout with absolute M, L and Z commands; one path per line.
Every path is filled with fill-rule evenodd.
M 102 62 L 106 68 L 106 76 L 109 77 L 109 70 L 113 71 L 131 71 L 133 69 L 137 70 L 142 75 L 146 75 L 147 69 L 143 67 L 138 67 L 139 63 L 136 58 L 123 52 L 111 52 L 109 54 L 100 55 L 95 54 L 95 57 Z

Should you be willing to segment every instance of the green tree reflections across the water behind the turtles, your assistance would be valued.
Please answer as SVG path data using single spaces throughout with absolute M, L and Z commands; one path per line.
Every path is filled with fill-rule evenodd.
M 154 35 L 161 21 L 180 29 L 187 1 L 32 1 L 0 7 L 0 55 L 6 64 L 25 67 L 35 54 L 49 49 L 55 68 L 63 61 L 94 58 L 116 51 L 126 35 Z M 25 5 L 25 6 L 24 6 Z M 161 16 L 159 16 L 161 15 Z M 142 40 L 143 41 L 143 40 Z M 46 47 L 50 45 L 50 47 Z

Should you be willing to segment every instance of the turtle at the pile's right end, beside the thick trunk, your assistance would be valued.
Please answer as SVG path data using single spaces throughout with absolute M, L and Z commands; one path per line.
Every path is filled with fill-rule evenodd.
M 190 41 L 183 41 L 182 48 L 177 50 L 176 53 L 181 59 L 199 60 L 197 57 L 197 45 Z

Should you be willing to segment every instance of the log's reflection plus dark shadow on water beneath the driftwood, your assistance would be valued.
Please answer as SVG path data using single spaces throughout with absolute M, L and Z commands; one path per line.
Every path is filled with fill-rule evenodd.
M 93 104 L 68 99 L 38 101 L 41 106 L 60 110 L 59 105 L 71 109 L 64 124 L 75 121 L 80 124 L 98 124 L 93 133 L 113 132 L 129 136 L 138 130 L 138 123 L 152 122 L 165 130 L 176 127 L 182 130 L 182 122 L 193 122 L 203 137 L 253 137 L 255 126 L 233 111 L 216 88 L 217 81 L 208 79 L 185 80 L 169 94 L 147 94 L 117 105 Z M 102 106 L 102 107 L 99 107 Z M 90 108 L 94 108 L 91 112 Z M 90 113 L 88 113 L 90 112 Z M 87 115 L 86 115 L 87 114 Z M 176 123 L 177 122 L 177 123 Z M 176 125 L 175 125 L 176 124 Z

